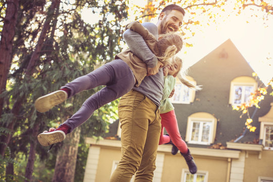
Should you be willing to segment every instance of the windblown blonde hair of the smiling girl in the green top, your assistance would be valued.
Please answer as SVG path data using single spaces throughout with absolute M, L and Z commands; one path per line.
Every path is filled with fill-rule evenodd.
M 201 88 L 201 85 L 195 85 L 194 82 L 192 82 L 192 81 L 190 81 L 190 80 L 188 80 L 188 79 L 186 78 L 186 72 L 187 72 L 187 70 L 181 71 L 182 64 L 183 64 L 183 61 L 182 61 L 181 58 L 178 58 L 177 56 L 174 56 L 174 57 L 171 59 L 171 63 L 170 63 L 170 64 L 178 63 L 178 62 L 181 63 L 181 64 L 180 64 L 181 66 L 180 66 L 180 68 L 177 70 L 177 73 L 175 73 L 175 74 L 176 74 L 177 78 L 179 79 L 179 81 L 181 81 L 181 83 L 185 84 L 185 85 L 188 86 L 189 88 L 193 88 L 193 89 L 195 89 L 195 90 L 201 90 L 201 89 L 202 89 L 202 88 Z

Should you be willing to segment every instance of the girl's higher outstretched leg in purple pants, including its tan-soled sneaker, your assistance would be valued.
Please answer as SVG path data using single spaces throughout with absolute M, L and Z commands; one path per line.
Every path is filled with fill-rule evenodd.
M 124 61 L 120 59 L 111 61 L 100 68 L 65 84 L 65 86 L 61 87 L 65 91 L 57 90 L 56 92 L 38 98 L 34 104 L 35 108 L 39 112 L 46 112 L 82 90 L 92 89 L 99 85 L 114 84 L 115 79 L 122 78 L 121 76 L 124 73 L 124 69 L 127 71 L 130 70 Z M 67 90 L 69 90 L 69 92 L 67 92 Z

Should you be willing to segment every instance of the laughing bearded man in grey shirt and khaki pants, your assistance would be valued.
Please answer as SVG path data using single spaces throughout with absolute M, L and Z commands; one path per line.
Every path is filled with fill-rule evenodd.
M 177 31 L 184 15 L 183 8 L 169 5 L 160 13 L 157 27 L 152 23 L 143 25 L 158 37 L 158 34 Z M 163 71 L 162 68 L 158 71 L 157 59 L 141 35 L 126 30 L 123 37 L 133 54 L 143 61 L 152 60 L 151 64 L 147 65 L 147 72 L 151 76 L 145 77 L 139 87 L 134 87 L 119 102 L 122 156 L 110 181 L 130 181 L 133 174 L 136 182 L 152 181 L 161 131 L 158 108 L 163 94 Z M 137 46 L 135 42 L 138 42 Z

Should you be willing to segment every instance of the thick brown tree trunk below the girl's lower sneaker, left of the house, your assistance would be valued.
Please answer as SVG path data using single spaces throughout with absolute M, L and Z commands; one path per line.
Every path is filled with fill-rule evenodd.
M 77 161 L 80 128 L 66 135 L 62 148 L 59 150 L 52 182 L 73 182 Z

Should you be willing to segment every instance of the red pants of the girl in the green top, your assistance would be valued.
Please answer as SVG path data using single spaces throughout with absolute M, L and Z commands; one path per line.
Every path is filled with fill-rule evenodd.
M 174 110 L 167 113 L 160 114 L 161 116 L 161 134 L 159 139 L 159 145 L 169 143 L 170 140 L 172 143 L 179 149 L 183 154 L 188 153 L 188 146 L 184 140 L 182 140 L 179 133 L 178 125 Z M 168 135 L 164 135 L 164 127 L 168 132 Z

